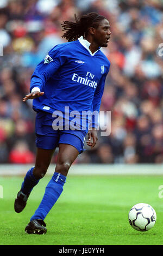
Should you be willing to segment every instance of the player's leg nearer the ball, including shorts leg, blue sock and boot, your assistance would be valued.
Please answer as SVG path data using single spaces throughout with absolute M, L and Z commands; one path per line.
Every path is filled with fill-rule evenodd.
M 59 153 L 55 172 L 53 177 L 47 184 L 45 194 L 43 195 L 39 207 L 35 211 L 34 215 L 30 218 L 30 222 L 25 229 L 25 231 L 29 234 L 46 233 L 46 228 L 42 227 L 42 225 L 45 225 L 45 222 L 43 220 L 60 197 L 71 164 L 77 158 L 78 154 L 83 152 L 83 141 L 85 134 L 80 131 L 76 131 L 74 133 L 76 135 L 72 134 L 71 132 L 60 132 Z M 42 225 L 39 223 L 40 221 L 42 222 Z

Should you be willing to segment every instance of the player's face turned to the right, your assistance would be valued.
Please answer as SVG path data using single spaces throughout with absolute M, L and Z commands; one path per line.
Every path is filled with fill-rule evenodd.
M 110 39 L 110 24 L 104 19 L 99 23 L 98 28 L 95 29 L 94 40 L 98 46 L 107 47 Z

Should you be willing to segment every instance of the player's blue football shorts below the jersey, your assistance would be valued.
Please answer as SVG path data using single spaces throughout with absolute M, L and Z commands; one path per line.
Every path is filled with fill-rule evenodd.
M 85 130 L 54 130 L 54 118 L 51 113 L 39 111 L 35 119 L 36 147 L 53 150 L 59 144 L 69 144 L 77 148 L 79 154 L 84 151 Z

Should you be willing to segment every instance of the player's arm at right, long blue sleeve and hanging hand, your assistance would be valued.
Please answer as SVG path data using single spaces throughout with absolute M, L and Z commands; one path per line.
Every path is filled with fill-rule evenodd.
M 109 66 L 110 67 L 110 66 Z M 109 68 L 108 68 L 108 72 L 109 72 Z M 92 120 L 91 126 L 89 128 L 89 132 L 87 133 L 88 135 L 88 141 L 86 141 L 86 144 L 88 146 L 90 146 L 91 148 L 95 147 L 95 145 L 97 144 L 97 140 L 98 140 L 98 136 L 97 136 L 97 129 L 98 129 L 98 115 L 99 115 L 99 109 L 100 109 L 100 105 L 101 105 L 101 99 L 103 96 L 103 92 L 104 92 L 104 87 L 105 87 L 105 80 L 106 80 L 106 76 L 108 75 L 108 72 L 106 72 L 97 88 L 93 97 L 93 116 L 92 118 L 94 118 L 94 120 Z M 91 142 L 91 139 L 93 140 Z

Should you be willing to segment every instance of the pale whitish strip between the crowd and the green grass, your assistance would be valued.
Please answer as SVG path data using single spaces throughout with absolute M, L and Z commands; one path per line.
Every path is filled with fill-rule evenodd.
M 0 176 L 25 175 L 34 164 L 0 164 Z M 55 164 L 48 168 L 47 175 L 52 175 Z M 162 164 L 73 164 L 70 175 L 163 175 Z

